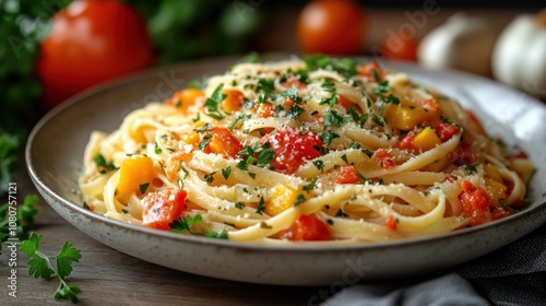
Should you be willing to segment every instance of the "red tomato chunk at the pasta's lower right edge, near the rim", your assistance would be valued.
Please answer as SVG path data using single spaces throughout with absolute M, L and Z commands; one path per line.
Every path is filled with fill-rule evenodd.
M 476 226 L 492 220 L 489 211 L 491 196 L 484 188 L 475 187 L 468 180 L 461 185 L 462 192 L 459 195 L 461 202 L 461 215 L 468 220 L 470 226 Z

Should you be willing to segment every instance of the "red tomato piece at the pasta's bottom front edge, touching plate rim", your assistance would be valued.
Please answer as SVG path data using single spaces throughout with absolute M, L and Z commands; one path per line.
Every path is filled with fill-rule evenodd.
M 296 219 L 285 237 L 294 242 L 332 240 L 332 233 L 322 220 L 312 214 L 302 214 Z

